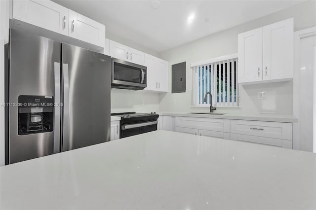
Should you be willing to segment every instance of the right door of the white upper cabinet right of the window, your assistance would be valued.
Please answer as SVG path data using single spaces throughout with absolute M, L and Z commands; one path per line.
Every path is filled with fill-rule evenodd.
M 293 18 L 263 27 L 263 80 L 293 77 Z

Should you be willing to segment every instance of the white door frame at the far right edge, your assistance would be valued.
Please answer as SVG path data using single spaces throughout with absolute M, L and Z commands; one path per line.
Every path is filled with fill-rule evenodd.
M 312 28 L 308 28 L 308 29 L 294 32 L 293 115 L 295 117 L 297 117 L 298 122 L 293 123 L 293 149 L 297 149 L 297 150 L 300 150 L 300 148 L 301 148 L 301 139 L 299 136 L 299 131 L 300 131 L 300 124 L 299 124 L 300 123 L 300 100 L 299 100 L 299 93 L 298 93 L 298 88 L 297 88 L 300 86 L 300 80 L 299 80 L 300 74 L 298 71 L 299 64 L 300 64 L 299 49 L 300 49 L 301 39 L 309 37 L 311 35 L 316 35 L 316 27 L 312 27 Z M 314 104 L 314 106 L 315 106 L 315 104 Z M 315 130 L 315 129 L 313 129 L 313 130 Z M 315 131 L 314 131 L 314 133 L 315 133 Z M 314 142 L 315 142 L 315 140 L 314 140 Z

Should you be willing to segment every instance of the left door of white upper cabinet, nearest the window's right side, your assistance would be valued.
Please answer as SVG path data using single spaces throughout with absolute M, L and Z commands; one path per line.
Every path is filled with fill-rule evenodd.
M 238 35 L 238 82 L 262 80 L 262 28 Z

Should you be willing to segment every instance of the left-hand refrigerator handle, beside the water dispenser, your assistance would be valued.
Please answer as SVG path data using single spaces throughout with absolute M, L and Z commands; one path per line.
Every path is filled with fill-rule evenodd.
M 61 113 L 61 97 L 60 97 L 60 63 L 54 62 L 54 153 L 60 152 L 60 113 Z

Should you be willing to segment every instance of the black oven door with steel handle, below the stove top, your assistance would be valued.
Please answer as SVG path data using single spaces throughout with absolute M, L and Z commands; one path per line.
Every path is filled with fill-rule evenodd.
M 119 138 L 157 131 L 157 121 L 122 125 Z

